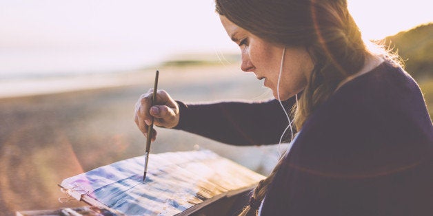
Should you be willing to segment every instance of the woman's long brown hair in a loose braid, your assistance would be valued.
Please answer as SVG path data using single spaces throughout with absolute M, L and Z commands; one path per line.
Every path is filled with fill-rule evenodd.
M 361 32 L 345 0 L 215 0 L 215 6 L 220 15 L 266 41 L 308 50 L 314 68 L 294 109 L 296 129 L 367 58 Z M 279 166 L 259 182 L 241 215 L 256 215 L 257 204 Z

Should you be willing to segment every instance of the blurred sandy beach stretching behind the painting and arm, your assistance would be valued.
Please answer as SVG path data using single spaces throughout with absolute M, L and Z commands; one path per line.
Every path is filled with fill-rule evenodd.
M 238 64 L 159 68 L 159 89 L 175 100 L 268 100 L 269 89 Z M 152 88 L 154 69 L 47 80 L 39 91 L 0 98 L 0 215 L 17 210 L 85 206 L 62 204 L 63 179 L 145 151 L 134 104 Z M 49 86 L 58 85 L 54 88 Z M 69 84 L 65 84 L 68 83 Z M 69 85 L 69 86 L 68 86 Z M 17 87 L 19 90 L 19 87 Z M 17 92 L 17 90 L 15 90 Z M 210 149 L 268 175 L 283 147 L 234 147 L 184 131 L 157 128 L 151 153 Z

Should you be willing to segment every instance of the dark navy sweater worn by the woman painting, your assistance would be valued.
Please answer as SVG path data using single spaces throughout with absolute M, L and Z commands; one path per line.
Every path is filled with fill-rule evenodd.
M 273 144 L 288 125 L 276 100 L 179 105 L 177 129 L 230 144 Z M 336 91 L 306 120 L 261 214 L 433 215 L 433 125 L 415 81 L 385 62 Z

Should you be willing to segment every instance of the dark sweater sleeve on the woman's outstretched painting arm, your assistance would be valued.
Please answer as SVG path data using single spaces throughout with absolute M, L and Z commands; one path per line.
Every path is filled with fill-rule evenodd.
M 296 102 L 283 102 L 290 110 Z M 235 145 L 276 144 L 288 120 L 278 100 L 265 102 L 215 102 L 187 105 L 179 102 L 180 120 L 177 127 L 212 140 Z M 290 139 L 290 129 L 285 140 Z

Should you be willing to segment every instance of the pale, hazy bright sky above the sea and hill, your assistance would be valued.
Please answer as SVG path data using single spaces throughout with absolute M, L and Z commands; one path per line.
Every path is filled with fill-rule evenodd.
M 137 69 L 186 53 L 238 52 L 214 0 L 0 0 L 0 79 Z M 367 39 L 433 21 L 428 1 L 349 0 Z

